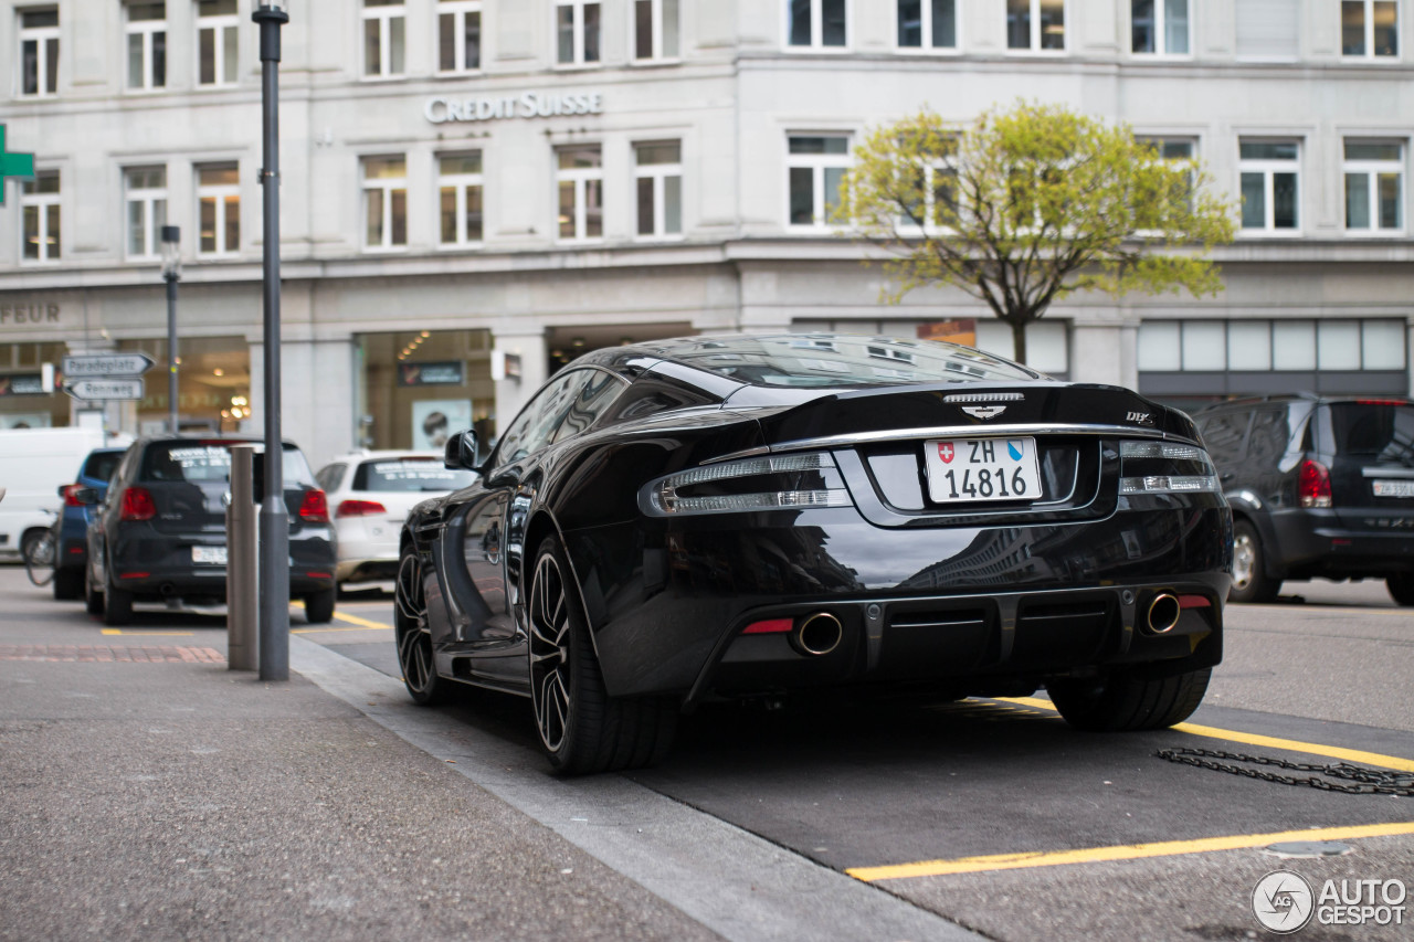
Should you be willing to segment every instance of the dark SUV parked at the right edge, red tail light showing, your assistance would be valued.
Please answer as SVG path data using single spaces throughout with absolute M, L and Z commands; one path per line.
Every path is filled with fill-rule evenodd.
M 1233 508 L 1233 601 L 1284 580 L 1383 578 L 1414 605 L 1414 403 L 1268 396 L 1193 421 Z

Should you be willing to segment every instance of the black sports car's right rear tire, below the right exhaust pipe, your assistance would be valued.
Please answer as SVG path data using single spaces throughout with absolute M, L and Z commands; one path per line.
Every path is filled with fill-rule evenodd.
M 1168 678 L 1117 670 L 1103 680 L 1056 680 L 1046 685 L 1046 692 L 1065 721 L 1077 730 L 1162 730 L 1193 714 L 1210 676 L 1212 668 Z

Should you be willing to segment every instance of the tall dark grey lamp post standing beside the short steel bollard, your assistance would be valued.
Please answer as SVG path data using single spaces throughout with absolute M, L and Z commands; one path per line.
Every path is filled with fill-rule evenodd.
M 286 0 L 253 0 L 260 24 L 264 188 L 264 498 L 260 501 L 260 679 L 290 679 L 290 515 L 280 436 L 280 27 Z

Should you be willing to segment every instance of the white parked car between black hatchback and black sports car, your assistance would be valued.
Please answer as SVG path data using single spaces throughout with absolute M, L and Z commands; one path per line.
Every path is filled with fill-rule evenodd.
M 354 451 L 320 470 L 339 539 L 338 584 L 397 576 L 397 535 L 407 512 L 467 487 L 475 474 L 443 467 L 436 451 Z

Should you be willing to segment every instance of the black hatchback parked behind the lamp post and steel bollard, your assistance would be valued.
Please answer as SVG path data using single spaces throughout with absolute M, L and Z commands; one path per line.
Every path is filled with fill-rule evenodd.
M 88 532 L 83 595 L 109 625 L 126 624 L 134 601 L 221 603 L 226 597 L 226 502 L 230 447 L 242 438 L 163 436 L 129 447 Z M 256 494 L 263 463 L 256 461 Z M 290 597 L 305 618 L 334 617 L 334 529 L 328 502 L 304 455 L 284 443 L 290 515 Z

